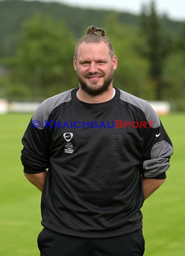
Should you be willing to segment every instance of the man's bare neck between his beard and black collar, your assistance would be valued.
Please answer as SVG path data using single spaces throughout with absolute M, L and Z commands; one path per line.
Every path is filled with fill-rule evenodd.
M 102 102 L 107 102 L 110 101 L 111 98 L 113 97 L 114 93 L 114 88 L 112 84 L 110 84 L 109 88 L 101 93 L 100 95 L 97 96 L 92 96 L 86 93 L 82 88 L 80 88 L 77 91 L 77 97 L 80 101 L 82 102 L 87 102 L 87 103 L 102 103 Z

